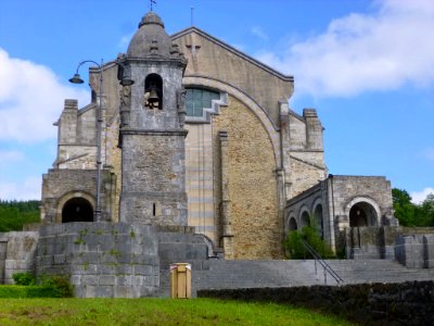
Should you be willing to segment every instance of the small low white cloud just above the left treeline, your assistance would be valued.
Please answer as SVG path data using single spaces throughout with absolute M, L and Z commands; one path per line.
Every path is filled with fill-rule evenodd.
M 28 177 L 24 184 L 0 180 L 2 200 L 40 200 L 42 176 Z

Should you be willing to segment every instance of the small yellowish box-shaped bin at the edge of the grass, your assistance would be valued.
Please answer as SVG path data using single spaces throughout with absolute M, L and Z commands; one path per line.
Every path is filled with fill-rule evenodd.
M 191 298 L 191 265 L 176 263 L 170 265 L 170 298 Z

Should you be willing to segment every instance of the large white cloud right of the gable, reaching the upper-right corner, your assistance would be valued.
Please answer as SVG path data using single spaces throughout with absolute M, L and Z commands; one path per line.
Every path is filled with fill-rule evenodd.
M 257 58 L 295 76 L 297 91 L 348 97 L 434 82 L 434 1 L 374 2 L 372 14 L 353 13 L 328 29 Z

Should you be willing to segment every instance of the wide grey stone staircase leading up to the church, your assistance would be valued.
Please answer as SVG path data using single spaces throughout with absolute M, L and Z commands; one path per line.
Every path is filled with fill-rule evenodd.
M 408 268 L 387 260 L 329 260 L 345 284 L 401 283 L 434 279 L 434 269 Z M 161 273 L 159 297 L 169 296 L 168 271 Z M 200 289 L 296 287 L 324 285 L 323 268 L 314 260 L 192 262 L 192 296 Z M 327 285 L 336 281 L 327 275 Z

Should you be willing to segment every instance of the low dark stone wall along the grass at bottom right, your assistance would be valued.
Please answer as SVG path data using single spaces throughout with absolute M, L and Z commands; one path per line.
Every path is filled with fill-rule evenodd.
M 434 283 L 200 290 L 197 297 L 290 304 L 362 325 L 433 325 Z

